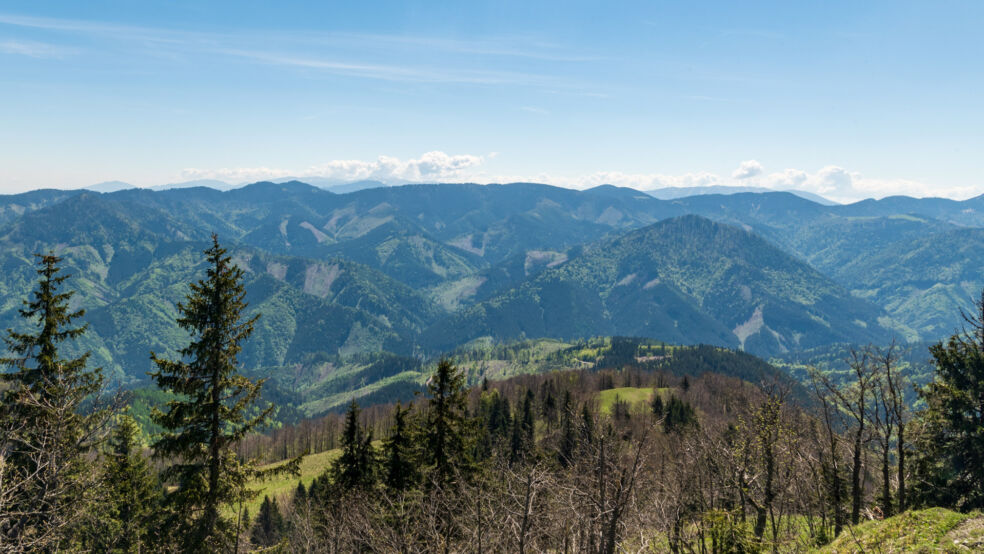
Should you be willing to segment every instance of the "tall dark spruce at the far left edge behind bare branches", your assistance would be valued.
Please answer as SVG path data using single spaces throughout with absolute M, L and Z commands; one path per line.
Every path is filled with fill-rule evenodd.
M 66 358 L 62 347 L 81 337 L 87 326 L 73 326 L 85 314 L 71 311 L 74 291 L 60 292 L 69 275 L 60 274 L 61 258 L 37 255 L 40 276 L 20 315 L 31 330 L 7 330 L 11 356 L 0 365 L 7 390 L 0 404 L 0 460 L 7 502 L 0 506 L 0 545 L 17 551 L 50 551 L 78 531 L 87 511 L 95 471 L 88 453 L 108 417 L 105 410 L 82 410 L 102 387 L 100 369 L 87 370 L 89 353 Z M 11 485 L 13 484 L 13 485 Z

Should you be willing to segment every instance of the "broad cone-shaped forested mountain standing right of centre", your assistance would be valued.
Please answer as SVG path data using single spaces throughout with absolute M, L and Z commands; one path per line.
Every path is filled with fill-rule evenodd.
M 434 347 L 490 335 L 620 334 L 771 354 L 884 340 L 876 306 L 752 233 L 695 216 L 593 243 L 428 329 Z

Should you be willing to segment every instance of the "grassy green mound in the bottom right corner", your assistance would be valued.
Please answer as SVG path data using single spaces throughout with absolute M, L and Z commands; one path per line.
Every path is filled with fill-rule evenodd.
M 882 521 L 869 521 L 820 550 L 848 552 L 981 552 L 984 550 L 984 516 L 961 514 L 944 508 L 913 510 Z

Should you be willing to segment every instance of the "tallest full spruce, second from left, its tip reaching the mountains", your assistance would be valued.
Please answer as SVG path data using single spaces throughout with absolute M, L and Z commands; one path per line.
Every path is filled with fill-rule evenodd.
M 205 250 L 206 277 L 191 284 L 191 293 L 178 304 L 178 325 L 191 335 L 169 360 L 151 353 L 157 370 L 151 377 L 175 395 L 165 411 L 155 410 L 154 422 L 164 428 L 154 454 L 173 460 L 164 478 L 176 486 L 167 495 L 174 533 L 186 552 L 215 552 L 235 540 L 235 526 L 222 507 L 251 496 L 248 482 L 255 465 L 239 460 L 234 446 L 269 421 L 273 406 L 253 412 L 264 379 L 242 375 L 237 355 L 253 332 L 259 316 L 243 319 L 246 309 L 243 272 L 212 236 Z

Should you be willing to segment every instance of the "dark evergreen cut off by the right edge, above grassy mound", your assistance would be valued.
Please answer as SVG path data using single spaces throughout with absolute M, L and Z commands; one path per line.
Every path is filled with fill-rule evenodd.
M 916 469 L 923 501 L 984 508 L 984 292 L 970 328 L 930 348 L 933 381 L 921 391 L 926 428 Z

